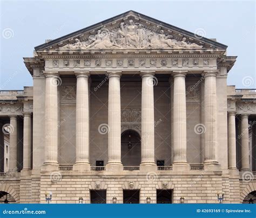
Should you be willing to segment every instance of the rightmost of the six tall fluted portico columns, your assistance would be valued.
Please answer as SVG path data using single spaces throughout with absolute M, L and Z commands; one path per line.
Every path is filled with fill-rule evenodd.
M 205 168 L 215 170 L 219 167 L 217 160 L 217 92 L 216 71 L 204 72 L 204 122 L 205 122 Z M 211 169 L 210 169 L 211 168 Z

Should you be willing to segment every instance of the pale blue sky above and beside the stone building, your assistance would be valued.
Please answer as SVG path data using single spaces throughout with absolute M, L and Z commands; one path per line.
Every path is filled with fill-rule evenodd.
M 1 1 L 1 0 L 0 0 Z M 0 89 L 32 86 L 23 57 L 55 39 L 125 11 L 134 10 L 228 46 L 238 56 L 228 85 L 256 88 L 254 1 L 1 1 Z M 10 35 L 8 35 L 10 33 Z M 250 86 L 243 78 L 250 76 Z

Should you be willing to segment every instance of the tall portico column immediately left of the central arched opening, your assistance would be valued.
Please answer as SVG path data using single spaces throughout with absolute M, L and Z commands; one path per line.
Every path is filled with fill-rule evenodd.
M 121 163 L 121 96 L 120 77 L 121 71 L 107 72 L 109 76 L 109 135 L 106 170 L 122 171 Z

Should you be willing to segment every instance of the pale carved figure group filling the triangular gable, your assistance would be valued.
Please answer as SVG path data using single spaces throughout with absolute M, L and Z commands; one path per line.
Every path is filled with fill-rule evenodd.
M 158 29 L 158 31 L 157 31 Z M 75 43 L 60 47 L 61 50 L 88 50 L 88 49 L 188 49 L 202 48 L 203 45 L 190 43 L 183 37 L 182 40 L 175 39 L 172 35 L 166 35 L 164 30 L 155 31 L 147 29 L 140 23 L 121 23 L 120 27 L 109 31 L 106 28 L 97 31 L 97 34 L 89 36 L 85 41 L 75 39 Z

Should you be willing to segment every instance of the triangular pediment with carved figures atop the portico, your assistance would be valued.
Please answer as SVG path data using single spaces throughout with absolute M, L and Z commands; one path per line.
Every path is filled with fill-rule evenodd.
M 36 51 L 80 50 L 226 50 L 214 40 L 128 11 L 103 22 L 51 40 Z

